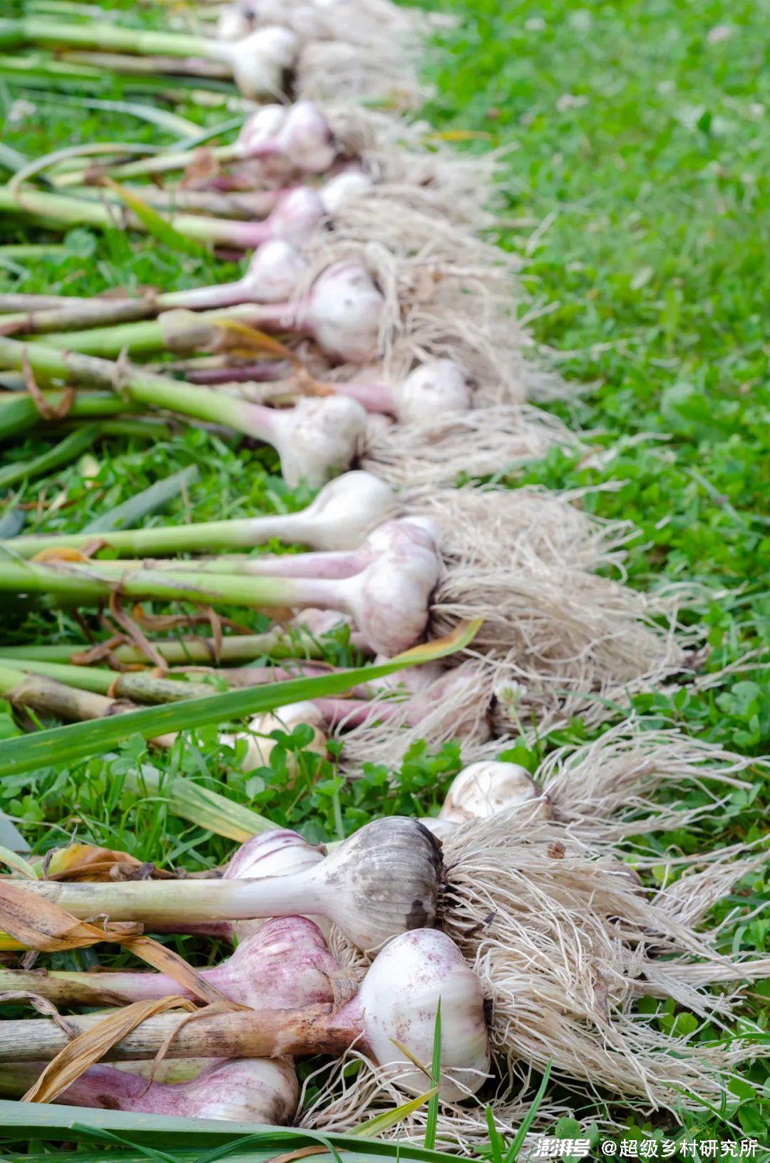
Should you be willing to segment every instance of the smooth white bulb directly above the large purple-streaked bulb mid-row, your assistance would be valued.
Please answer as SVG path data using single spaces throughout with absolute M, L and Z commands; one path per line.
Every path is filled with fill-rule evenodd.
M 324 485 L 305 509 L 292 514 L 292 536 L 322 551 L 358 549 L 395 508 L 395 491 L 384 480 L 362 469 L 345 472 Z

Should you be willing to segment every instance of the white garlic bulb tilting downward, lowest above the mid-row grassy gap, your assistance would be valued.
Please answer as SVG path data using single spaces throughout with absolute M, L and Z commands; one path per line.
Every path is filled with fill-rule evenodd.
M 303 398 L 273 418 L 274 445 L 287 485 L 312 488 L 350 469 L 366 431 L 366 411 L 343 395 Z

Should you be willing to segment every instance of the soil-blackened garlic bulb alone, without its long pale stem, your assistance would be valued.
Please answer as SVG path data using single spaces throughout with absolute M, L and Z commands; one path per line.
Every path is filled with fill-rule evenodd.
M 310 870 L 307 900 L 309 911 L 323 902 L 324 915 L 370 951 L 436 923 L 442 877 L 436 837 L 418 820 L 388 816 L 365 825 Z

